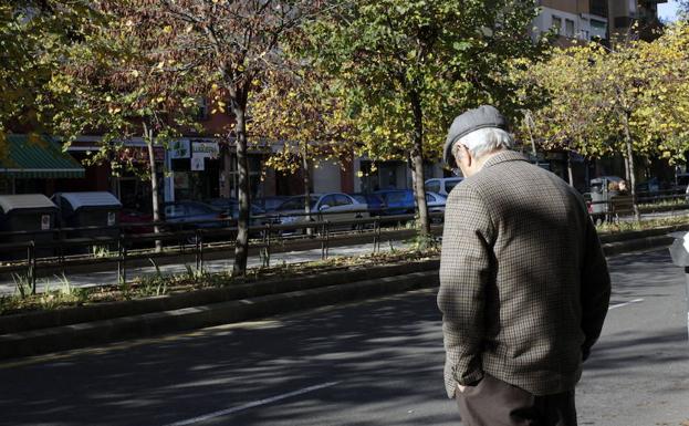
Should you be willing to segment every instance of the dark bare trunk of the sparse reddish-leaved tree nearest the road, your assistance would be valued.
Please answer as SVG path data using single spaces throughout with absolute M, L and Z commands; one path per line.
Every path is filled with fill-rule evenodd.
M 233 107 L 237 124 L 237 172 L 239 174 L 239 220 L 237 222 L 237 241 L 234 242 L 233 276 L 247 273 L 247 258 L 249 257 L 249 162 L 247 158 L 247 122 L 246 106 Z

